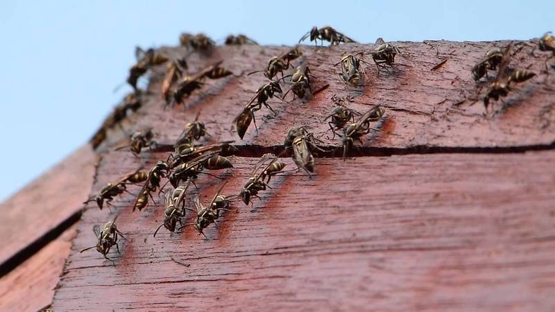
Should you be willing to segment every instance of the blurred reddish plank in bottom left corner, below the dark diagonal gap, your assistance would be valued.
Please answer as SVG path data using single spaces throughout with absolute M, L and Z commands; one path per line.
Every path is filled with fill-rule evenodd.
M 0 311 L 35 312 L 51 304 L 76 230 L 76 225 L 65 230 L 58 239 L 0 278 Z

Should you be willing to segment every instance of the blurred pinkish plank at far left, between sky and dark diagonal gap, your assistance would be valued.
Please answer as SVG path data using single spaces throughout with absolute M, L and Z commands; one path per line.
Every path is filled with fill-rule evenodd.
M 89 145 L 83 146 L 0 205 L 0 265 L 26 257 L 17 255 L 42 244 L 44 236 L 82 209 L 97 159 Z

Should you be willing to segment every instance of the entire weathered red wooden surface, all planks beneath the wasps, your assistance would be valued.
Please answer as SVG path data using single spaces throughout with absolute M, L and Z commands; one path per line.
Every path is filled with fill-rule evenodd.
M 359 89 L 345 87 L 337 76 L 339 66 L 333 64 L 344 51 L 369 51 L 375 45 L 302 46 L 305 57 L 293 65 L 309 65 L 316 76 L 314 89 L 330 87 L 309 101 L 291 101 L 291 94 L 284 102 L 268 101 L 278 116 L 265 108 L 257 112 L 258 135 L 251 125 L 244 140 L 232 132 L 232 120 L 268 81 L 262 73 L 246 73 L 263 69 L 269 58 L 288 47 L 224 46 L 210 58 L 191 55 L 191 74 L 223 60 L 235 76 L 207 80 L 185 105 L 166 110 L 160 96 L 164 66 L 157 67 L 144 106 L 110 130 L 108 141 L 96 150 L 101 157 L 96 171 L 98 156 L 85 148 L 76 153 L 84 155 L 66 159 L 61 169 L 46 173 L 3 204 L 3 211 L 13 213 L 0 219 L 8 226 L 0 227 L 0 234 L 12 239 L 2 257 L 12 258 L 10 250 L 17 254 L 67 222 L 81 202 L 107 182 L 167 158 L 166 153 L 134 157 L 114 151 L 127 143 L 133 130 L 153 127 L 157 141 L 171 143 L 200 112 L 199 120 L 207 123 L 211 135 L 207 142 L 235 140 L 245 156 L 235 157 L 236 168 L 221 173 L 230 177 L 224 193 L 237 193 L 256 162 L 252 156 L 280 146 L 293 125 L 309 125 L 323 145 L 339 144 L 341 139 L 331 139 L 323 120 L 334 108 L 333 94 L 351 94 L 354 100 L 348 107 L 364 112 L 381 104 L 388 114 L 386 121 L 374 125 L 379 132 L 365 138 L 359 157 L 346 162 L 316 159 L 314 177 L 275 177 L 274 189 L 254 207 L 235 202 L 237 209 L 223 216 L 221 227 L 206 231 L 209 241 L 191 227 L 171 236 L 162 229 L 153 239 L 162 207 L 132 214 L 134 198 L 128 194 L 114 200 L 117 208 L 112 211 L 88 205 L 58 284 L 54 311 L 552 310 L 555 87 L 552 73 L 545 72 L 549 55 L 529 55 L 531 42 L 516 44 L 511 64 L 537 76 L 515 85 L 505 105 L 494 103 L 493 112 L 484 114 L 479 101 L 472 104 L 479 87 L 470 78 L 470 68 L 488 49 L 507 43 L 395 42 L 409 58 L 398 57 L 394 69 L 379 76 L 373 65 L 366 67 Z M 162 51 L 174 57 L 185 54 L 182 49 Z M 442 67 L 430 71 L 446 57 Z M 425 155 L 395 155 L 411 153 Z M 427 155 L 432 153 L 444 154 Z M 379 155 L 393 156 L 370 157 Z M 287 163 L 294 168 L 289 159 Z M 220 183 L 200 178 L 201 200 L 210 200 Z M 157 201 L 162 205 L 162 198 Z M 42 214 L 22 213 L 37 202 L 45 207 Z M 79 254 L 95 243 L 92 226 L 120 212 L 118 222 L 128 241 L 120 241 L 121 256 L 110 254 L 115 266 L 94 250 Z M 14 234 L 13 228 L 22 224 L 28 233 Z M 40 254 L 52 252 L 52 244 Z M 57 248 L 53 263 L 65 257 L 63 245 Z M 26 263 L 40 266 L 42 257 L 35 254 Z M 46 276 L 54 267 L 27 270 Z M 12 271 L 0 285 L 18 274 Z M 14 307 L 35 309 L 26 303 Z

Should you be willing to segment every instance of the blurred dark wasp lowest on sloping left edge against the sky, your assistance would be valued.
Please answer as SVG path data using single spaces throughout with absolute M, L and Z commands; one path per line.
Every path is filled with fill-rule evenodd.
M 106 117 L 99 130 L 96 130 L 92 138 L 89 140 L 92 148 L 99 147 L 100 144 L 106 139 L 106 132 L 108 129 L 114 127 L 114 125 L 117 125 L 120 121 L 125 119 L 129 111 L 135 112 L 141 106 L 141 92 L 139 92 L 139 90 L 137 90 L 137 92 L 127 94 L 123 98 L 123 101 L 114 107 L 112 113 Z

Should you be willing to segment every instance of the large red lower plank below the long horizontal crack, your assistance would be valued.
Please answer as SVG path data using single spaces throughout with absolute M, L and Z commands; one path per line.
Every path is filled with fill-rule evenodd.
M 120 156 L 103 157 L 100 181 L 139 162 Z M 256 159 L 233 161 L 225 194 Z M 153 238 L 161 198 L 135 213 L 130 195 L 112 214 L 91 206 L 54 311 L 555 309 L 555 151 L 317 159 L 316 173 L 275 177 L 253 207 L 233 202 L 207 241 L 191 227 Z M 220 183 L 200 178 L 201 200 Z M 79 254 L 117 213 L 115 262 Z

